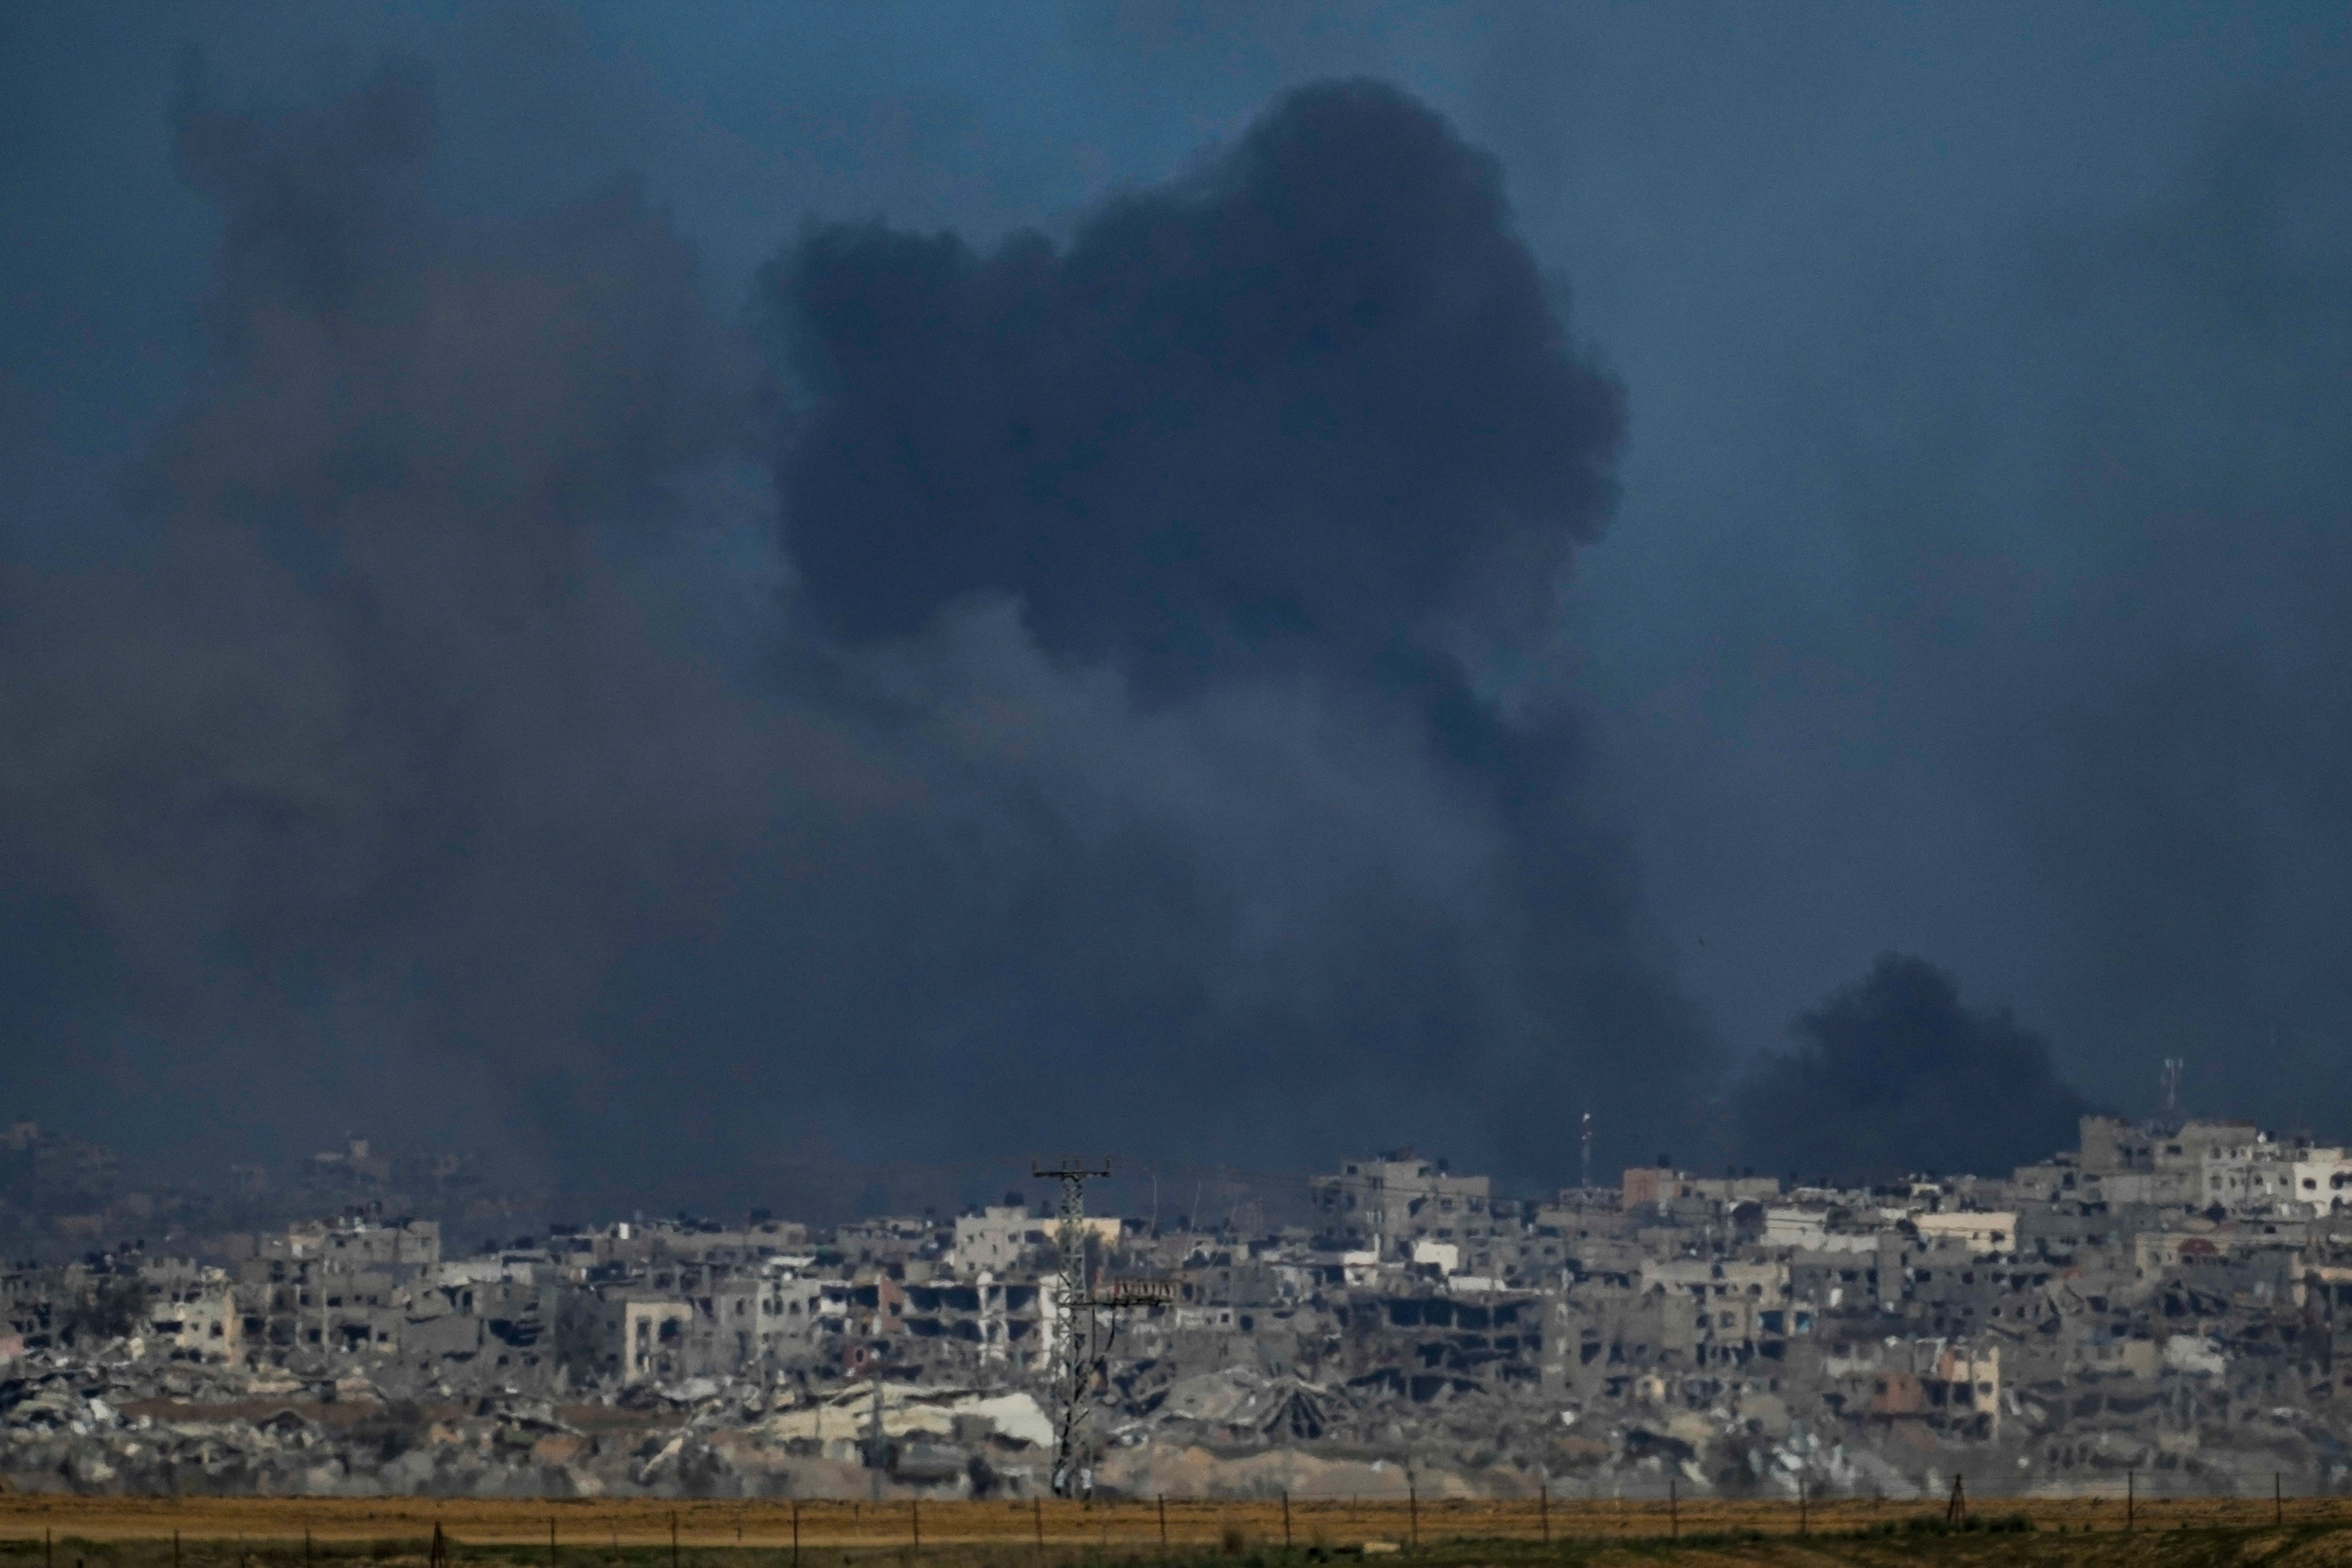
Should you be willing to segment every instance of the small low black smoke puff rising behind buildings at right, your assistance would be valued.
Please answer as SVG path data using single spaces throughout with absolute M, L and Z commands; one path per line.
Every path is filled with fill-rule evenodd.
M 1926 959 L 1884 954 L 1792 1034 L 1797 1048 L 1750 1067 L 1738 1098 L 1740 1152 L 1766 1173 L 2006 1175 L 2072 1147 L 2091 1110 L 2042 1034 L 1966 1006 Z

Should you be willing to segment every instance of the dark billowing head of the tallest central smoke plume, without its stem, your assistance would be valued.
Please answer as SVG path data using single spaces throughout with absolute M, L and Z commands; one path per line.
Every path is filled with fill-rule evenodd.
M 793 552 L 851 635 L 1002 590 L 1152 693 L 1359 677 L 1463 616 L 1538 630 L 1606 517 L 1618 390 L 1501 172 L 1388 87 L 1294 94 L 1061 254 L 842 228 L 776 282 L 826 390 Z

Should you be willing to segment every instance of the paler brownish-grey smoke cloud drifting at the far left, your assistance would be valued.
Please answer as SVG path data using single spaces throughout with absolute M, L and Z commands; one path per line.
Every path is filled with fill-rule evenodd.
M 223 230 L 153 552 L 0 583 L 0 820 L 111 976 L 52 1081 L 165 1140 L 428 1084 L 395 1114 L 480 1133 L 468 1098 L 543 1070 L 616 924 L 724 842 L 656 757 L 748 715 L 600 541 L 748 442 L 755 367 L 626 190 L 445 221 L 409 80 L 282 122 L 191 96 L 176 150 Z

